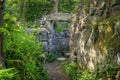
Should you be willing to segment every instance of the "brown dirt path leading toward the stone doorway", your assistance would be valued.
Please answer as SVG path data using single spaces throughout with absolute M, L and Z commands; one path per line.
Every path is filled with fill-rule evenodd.
M 48 70 L 50 80 L 68 80 L 60 62 L 54 61 L 52 63 L 47 63 L 45 68 Z

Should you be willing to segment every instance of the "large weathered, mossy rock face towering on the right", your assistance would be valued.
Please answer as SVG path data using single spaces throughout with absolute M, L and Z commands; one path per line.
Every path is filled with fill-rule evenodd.
M 120 0 L 81 1 L 71 22 L 71 58 L 82 68 L 120 65 Z

